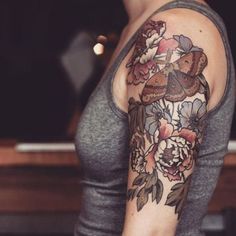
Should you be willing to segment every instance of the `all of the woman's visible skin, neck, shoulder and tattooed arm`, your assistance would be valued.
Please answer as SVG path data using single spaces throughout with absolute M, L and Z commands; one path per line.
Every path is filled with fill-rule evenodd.
M 169 1 L 124 0 L 130 20 L 122 32 L 110 63 L 133 33 L 144 22 L 146 22 L 144 25 L 148 24 L 147 18 L 152 14 L 153 9 L 158 9 L 167 2 Z M 200 0 L 199 2 L 204 3 Z M 188 19 L 187 23 L 186 19 Z M 193 46 L 198 48 L 198 55 L 193 56 L 194 53 L 189 54 L 185 51 L 181 56 L 188 58 L 188 65 L 193 63 L 194 66 L 191 68 L 201 69 L 190 70 L 186 65 L 179 66 L 181 56 L 172 58 L 171 64 L 165 57 L 166 62 L 158 65 L 158 69 L 155 69 L 152 75 L 149 74 L 145 78 L 143 75 L 138 76 L 134 82 L 135 75 L 143 73 L 143 69 L 139 69 L 140 67 L 133 62 L 139 61 L 139 57 L 151 57 L 147 44 L 141 47 L 140 54 L 136 53 L 140 48 L 136 41 L 116 72 L 113 81 L 114 99 L 118 107 L 128 113 L 131 131 L 128 197 L 123 236 L 175 235 L 194 170 L 198 147 L 203 136 L 205 115 L 219 102 L 226 83 L 227 69 L 223 43 L 219 32 L 206 17 L 191 10 L 173 9 L 154 15 L 150 20 L 155 23 L 165 22 L 166 30 L 161 37 L 164 39 L 162 41 L 164 44 L 168 42 L 169 50 L 175 48 L 176 35 L 182 35 L 185 37 L 185 41 L 189 39 Z M 143 32 L 140 34 L 141 40 L 145 38 L 143 35 L 146 31 Z M 155 33 L 157 34 L 157 32 Z M 171 43 L 168 40 L 171 40 Z M 209 44 L 209 42 L 211 43 Z M 161 48 L 161 45 L 157 43 L 155 47 Z M 144 52 L 147 52 L 145 57 Z M 205 58 L 205 61 L 202 58 Z M 185 57 L 183 61 L 186 62 Z M 177 77 L 176 70 L 178 71 Z M 171 81 L 181 79 L 181 73 L 192 76 L 195 80 L 198 80 L 197 76 L 201 75 L 203 78 L 201 88 L 197 85 L 198 83 L 193 82 L 183 96 L 180 95 L 183 91 L 175 93 L 177 89 L 173 90 L 172 95 L 169 94 L 167 91 L 170 91 L 173 86 Z M 156 80 L 152 79 L 153 75 L 156 76 Z M 152 82 L 152 80 L 158 82 Z M 153 90 L 159 84 L 165 88 L 164 92 Z M 187 86 L 185 82 L 182 85 Z M 163 95 L 160 95 L 162 93 Z M 210 96 L 208 97 L 206 94 L 210 94 Z M 153 97 L 153 100 L 150 97 Z M 193 113 L 189 112 L 189 119 L 186 121 L 183 118 L 186 107 L 194 107 L 197 112 L 201 110 L 198 113 L 201 115 L 197 117 L 200 122 L 195 122 L 191 116 Z M 179 145 L 179 143 L 184 143 L 183 150 L 180 148 L 182 144 Z M 164 159 L 172 160 L 173 153 L 185 153 L 182 157 L 185 159 L 184 163 L 177 161 L 178 168 L 174 168 L 174 172 L 172 167 L 166 167 L 163 163 Z M 176 158 L 181 159 L 178 155 Z M 137 165 L 140 159 L 145 163 L 143 166 L 141 165 L 142 168 Z M 151 188 L 150 179 L 152 180 Z M 153 187 L 154 185 L 155 187 Z M 182 194 L 178 195 L 179 192 Z

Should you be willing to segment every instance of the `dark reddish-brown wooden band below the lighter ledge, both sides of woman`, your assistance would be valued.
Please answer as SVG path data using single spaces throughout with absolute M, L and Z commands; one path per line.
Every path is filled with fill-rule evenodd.
M 0 168 L 0 213 L 79 212 L 82 187 L 74 167 Z M 236 208 L 236 168 L 224 167 L 209 212 Z

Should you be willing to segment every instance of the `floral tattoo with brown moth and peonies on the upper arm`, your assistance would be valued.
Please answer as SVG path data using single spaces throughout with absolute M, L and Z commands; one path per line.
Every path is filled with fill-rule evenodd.
M 165 204 L 181 215 L 207 116 L 209 87 L 202 72 L 203 50 L 184 35 L 165 38 L 166 23 L 149 20 L 138 34 L 127 64 L 131 170 L 136 173 L 127 199 L 140 211 L 161 201 L 165 178 L 172 184 Z M 160 178 L 160 175 L 162 177 Z

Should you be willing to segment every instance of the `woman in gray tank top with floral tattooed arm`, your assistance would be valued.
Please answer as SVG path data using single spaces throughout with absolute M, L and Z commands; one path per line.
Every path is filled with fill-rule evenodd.
M 78 126 L 75 235 L 203 235 L 234 110 L 224 24 L 203 0 L 124 4 L 129 23 Z

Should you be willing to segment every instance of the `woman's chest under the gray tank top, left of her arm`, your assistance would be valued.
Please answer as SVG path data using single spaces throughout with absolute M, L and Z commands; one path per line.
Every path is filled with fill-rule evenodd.
M 129 156 L 128 122 L 110 104 L 106 81 L 83 111 L 75 139 L 83 169 L 90 179 L 102 181 L 110 181 L 109 173 L 127 169 Z

